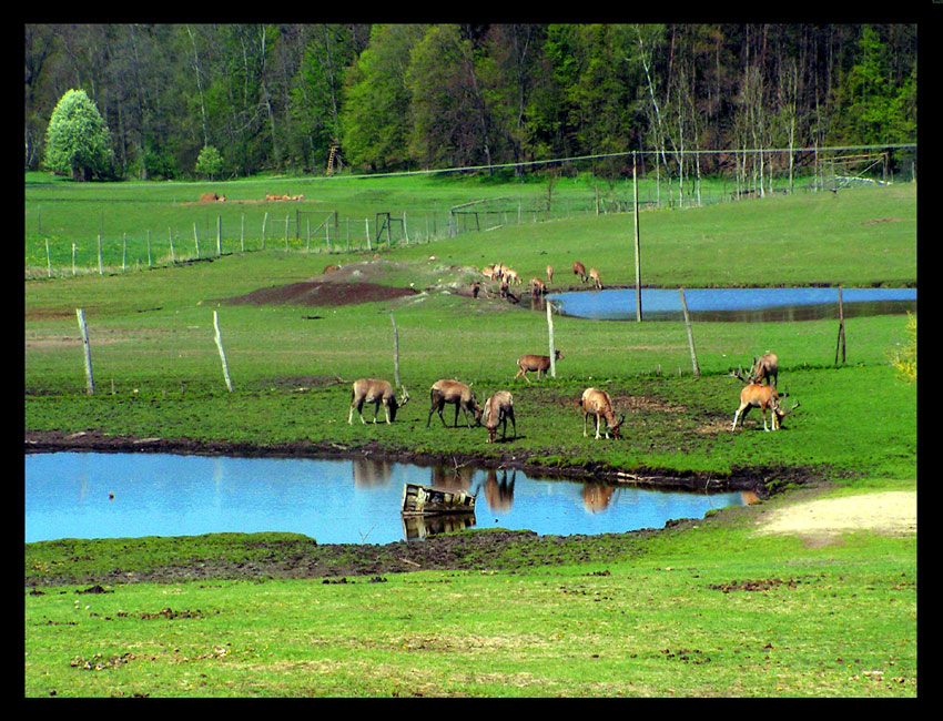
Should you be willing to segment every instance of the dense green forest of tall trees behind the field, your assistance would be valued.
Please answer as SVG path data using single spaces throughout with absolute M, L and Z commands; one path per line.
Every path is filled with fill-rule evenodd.
M 27 24 L 24 164 L 70 89 L 94 180 L 916 142 L 916 24 Z M 716 160 L 714 160 L 716 159 Z M 703 172 L 721 155 L 704 155 Z M 611 159 L 604 171 L 623 171 Z M 605 163 L 604 163 L 605 165 Z

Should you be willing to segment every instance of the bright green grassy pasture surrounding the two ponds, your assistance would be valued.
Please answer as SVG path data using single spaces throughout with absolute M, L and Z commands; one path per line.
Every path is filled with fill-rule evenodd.
M 378 197 L 419 196 L 427 185 L 444 204 L 485 192 L 481 184 L 469 190 L 470 181 L 408 180 L 369 181 L 357 192 L 373 197 L 349 202 L 367 207 Z M 148 187 L 156 214 L 174 189 Z M 260 187 L 233 183 L 224 192 L 236 197 Z M 487 191 L 509 194 L 499 185 Z M 60 184 L 41 192 L 87 192 L 115 203 L 125 190 Z M 301 186 L 292 192 L 307 196 Z M 337 205 L 351 194 L 336 192 Z M 28 187 L 28 219 L 32 203 L 48 202 Z M 899 185 L 646 211 L 643 281 L 915 286 L 915 187 Z M 135 222 L 144 215 L 128 212 Z M 29 225 L 27 266 L 44 266 L 44 247 L 41 262 L 30 260 Z M 55 232 L 71 246 L 73 231 Z M 310 280 L 328 262 L 275 247 L 27 281 L 26 429 L 260 446 L 369 443 L 704 476 L 762 467 L 773 469 L 773 485 L 774 469 L 801 467 L 815 470 L 832 494 L 915 489 L 916 388 L 890 365 L 906 341 L 902 316 L 848 319 L 841 367 L 836 321 L 698 323 L 700 379 L 691 375 L 681 323 L 555 317 L 565 356 L 557 378 L 513 383 L 518 355 L 545 352 L 546 316 L 455 291 L 491 262 L 526 280 L 548 263 L 566 276 L 577 257 L 600 267 L 605 283 L 628 285 L 631 233 L 631 215 L 616 214 L 509 225 L 376 258 L 333 253 L 332 263 L 363 264 L 361 280 L 423 291 L 338 307 L 226 303 Z M 84 393 L 78 307 L 89 324 L 94 396 Z M 213 341 L 214 311 L 233 393 Z M 347 382 L 393 379 L 391 315 L 413 399 L 391 426 L 348 426 Z M 781 433 L 764 434 L 754 412 L 731 434 L 740 384 L 727 372 L 767 349 L 780 355 L 780 385 L 801 407 Z M 473 383 L 479 398 L 511 389 L 520 437 L 490 446 L 484 429 L 427 429 L 427 389 L 439 377 Z M 575 400 L 587 385 L 605 387 L 626 413 L 622 441 L 582 438 Z M 84 596 L 43 588 L 24 602 L 26 694 L 915 695 L 915 537 L 859 532 L 822 545 L 758 535 L 758 518 L 793 497 L 805 496 L 782 494 L 653 539 L 601 538 L 588 559 L 561 560 L 548 542 L 546 562 L 511 558 L 480 571 L 391 573 L 384 582 L 118 583 L 113 593 Z M 81 558 L 29 544 L 27 573 L 63 563 L 109 570 L 121 562 L 114 559 L 123 542 L 92 542 Z M 140 551 L 134 562 L 160 565 L 182 552 L 168 544 L 161 552 Z M 189 562 L 226 552 L 212 538 L 194 545 L 182 557 Z

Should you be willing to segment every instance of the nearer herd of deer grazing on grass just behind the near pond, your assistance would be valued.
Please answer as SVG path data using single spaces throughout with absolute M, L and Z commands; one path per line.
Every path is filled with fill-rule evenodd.
M 560 360 L 564 356 L 559 351 L 555 352 L 555 359 Z M 536 372 L 537 379 L 540 379 L 541 374 L 546 374 L 550 367 L 550 356 L 540 355 L 523 355 L 517 360 L 518 372 L 514 377 L 516 380 L 523 377 L 527 383 L 530 379 L 528 373 Z M 743 417 L 750 412 L 750 408 L 759 408 L 763 414 L 763 430 L 769 431 L 767 426 L 767 410 L 771 412 L 772 429 L 779 430 L 782 419 L 795 408 L 799 403 L 792 404 L 788 410 L 780 403 L 781 395 L 777 390 L 777 380 L 779 377 L 779 360 L 772 353 L 754 358 L 753 365 L 748 376 L 743 375 L 742 367 L 737 370 L 731 370 L 730 375 L 739 378 L 747 385 L 740 392 L 740 406 L 733 416 L 733 425 L 730 430 L 737 429 L 737 422 L 740 422 L 740 427 L 743 427 Z M 763 383 L 765 380 L 765 384 Z M 782 396 L 789 395 L 788 389 Z M 403 395 L 397 397 L 393 390 L 393 386 L 388 380 L 377 378 L 361 378 L 354 382 L 351 390 L 351 412 L 347 415 L 347 424 L 354 422 L 354 409 L 361 417 L 361 423 L 365 424 L 363 415 L 364 404 L 374 405 L 373 422 L 377 422 L 379 407 L 383 406 L 386 415 L 386 423 L 396 420 L 396 412 L 409 402 L 409 394 L 405 386 Z M 514 437 L 517 437 L 517 422 L 514 417 L 514 397 L 507 390 L 498 390 L 487 400 L 484 407 L 478 405 L 475 398 L 475 393 L 472 388 L 458 380 L 443 378 L 436 380 L 433 387 L 429 388 L 429 415 L 426 418 L 426 428 L 433 419 L 433 414 L 438 413 L 439 420 L 443 426 L 448 427 L 448 424 L 443 416 L 443 409 L 446 404 L 455 406 L 454 427 L 458 427 L 458 412 L 462 410 L 465 416 L 465 424 L 472 428 L 469 414 L 475 420 L 476 426 L 484 426 L 488 431 L 488 443 L 495 441 L 495 436 L 498 426 L 501 426 L 501 440 L 507 438 L 507 422 L 510 420 Z M 612 399 L 605 390 L 598 388 L 587 388 L 582 392 L 579 398 L 578 407 L 582 412 L 582 436 L 588 437 L 587 423 L 589 416 L 592 416 L 596 430 L 596 438 L 600 438 L 600 431 L 606 438 L 612 434 L 614 438 L 621 438 L 621 426 L 626 419 L 626 415 L 621 414 L 616 418 L 616 412 L 612 407 Z M 605 425 L 604 425 L 605 424 Z

